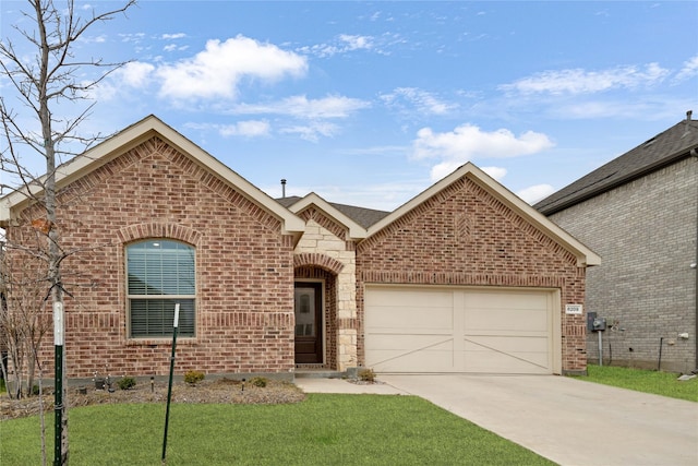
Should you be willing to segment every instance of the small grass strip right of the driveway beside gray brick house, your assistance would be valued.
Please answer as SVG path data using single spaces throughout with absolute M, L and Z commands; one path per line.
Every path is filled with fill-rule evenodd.
M 588 377 L 579 380 L 698 402 L 698 378 L 678 381 L 678 374 L 614 366 L 588 366 Z

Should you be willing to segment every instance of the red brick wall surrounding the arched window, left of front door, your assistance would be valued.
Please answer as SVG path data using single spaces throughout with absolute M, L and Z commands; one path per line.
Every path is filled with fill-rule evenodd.
M 63 263 L 69 378 L 168 373 L 171 339 L 128 337 L 124 247 L 148 238 L 195 248 L 196 336 L 178 339 L 177 373 L 292 377 L 293 240 L 279 219 L 158 138 L 59 199 L 61 244 L 76 251 Z M 52 373 L 51 332 L 41 360 Z

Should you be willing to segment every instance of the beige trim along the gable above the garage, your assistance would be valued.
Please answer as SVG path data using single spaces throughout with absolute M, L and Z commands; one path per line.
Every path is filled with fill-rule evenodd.
M 549 220 L 545 216 L 537 212 L 533 207 L 508 191 L 501 183 L 492 179 L 489 175 L 471 163 L 461 166 L 446 178 L 436 182 L 421 194 L 417 195 L 376 224 L 369 227 L 366 238 L 371 238 L 396 220 L 409 215 L 410 212 L 418 208 L 428 200 L 437 196 L 441 192 L 445 191 L 464 177 L 474 181 L 493 198 L 502 202 L 507 208 L 512 210 L 514 213 L 550 237 L 553 241 L 571 252 L 577 258 L 578 265 L 598 265 L 601 263 L 601 258 L 599 258 L 593 251 L 579 242 L 567 231 L 559 228 L 553 222 Z

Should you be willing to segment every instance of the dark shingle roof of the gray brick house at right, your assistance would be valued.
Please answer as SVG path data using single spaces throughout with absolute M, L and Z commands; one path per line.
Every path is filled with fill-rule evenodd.
M 690 113 L 689 113 L 690 115 Z M 698 121 L 690 116 L 634 150 L 545 198 L 533 207 L 552 215 L 690 156 L 698 147 Z

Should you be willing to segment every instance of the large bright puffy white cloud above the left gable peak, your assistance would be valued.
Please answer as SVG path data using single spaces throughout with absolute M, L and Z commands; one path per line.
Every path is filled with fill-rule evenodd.
M 208 40 L 205 50 L 158 68 L 160 96 L 176 99 L 234 98 L 243 77 L 276 81 L 308 71 L 305 58 L 270 44 L 237 36 L 224 43 Z

